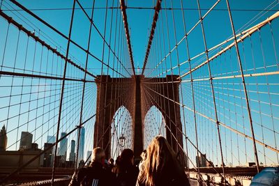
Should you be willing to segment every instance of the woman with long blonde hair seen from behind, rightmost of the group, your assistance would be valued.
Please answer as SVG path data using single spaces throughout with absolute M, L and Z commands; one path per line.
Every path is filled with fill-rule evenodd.
M 163 136 L 155 137 L 146 151 L 137 186 L 190 185 L 176 153 Z

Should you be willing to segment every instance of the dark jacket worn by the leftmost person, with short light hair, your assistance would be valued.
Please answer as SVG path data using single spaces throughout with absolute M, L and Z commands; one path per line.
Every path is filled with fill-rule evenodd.
M 74 173 L 69 186 L 110 186 L 115 185 L 114 175 L 103 169 L 99 162 L 91 162 L 89 166 L 84 166 Z

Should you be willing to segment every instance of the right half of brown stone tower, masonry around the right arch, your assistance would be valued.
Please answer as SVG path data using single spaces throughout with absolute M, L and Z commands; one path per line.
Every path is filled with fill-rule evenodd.
M 142 121 L 146 116 L 146 112 L 151 107 L 157 107 L 163 114 L 166 123 L 166 137 L 169 144 L 172 146 L 176 153 L 181 153 L 183 148 L 183 135 L 180 106 L 176 104 L 179 102 L 179 82 L 172 82 L 176 79 L 175 75 L 167 75 L 164 78 L 153 78 L 142 84 L 144 87 L 144 98 L 142 99 Z M 158 83 L 159 82 L 159 83 Z

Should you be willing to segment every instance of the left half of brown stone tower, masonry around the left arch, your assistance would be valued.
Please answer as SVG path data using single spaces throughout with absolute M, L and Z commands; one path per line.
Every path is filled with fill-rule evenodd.
M 106 155 L 110 155 L 111 124 L 116 111 L 125 107 L 134 121 L 134 108 L 127 100 L 133 100 L 133 79 L 111 78 L 103 75 L 96 79 L 96 123 L 94 127 L 94 147 L 100 146 L 105 149 Z M 100 81 L 102 79 L 102 82 Z M 127 91 L 130 88 L 130 91 Z M 125 97 L 124 97 L 125 95 Z

